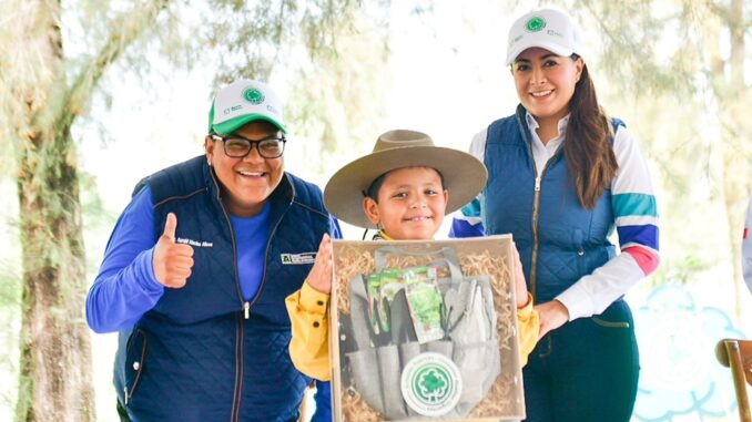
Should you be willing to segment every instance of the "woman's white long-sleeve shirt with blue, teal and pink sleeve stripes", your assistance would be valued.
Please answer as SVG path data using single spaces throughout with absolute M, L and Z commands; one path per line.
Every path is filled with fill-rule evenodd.
M 565 142 L 568 122 L 569 115 L 561 119 L 558 135 L 543 144 L 536 133 L 538 122 L 532 115 L 527 114 L 538 176 Z M 486 138 L 487 130 L 484 130 L 475 135 L 469 148 L 470 154 L 481 162 Z M 658 214 L 654 209 L 650 172 L 634 136 L 624 126 L 619 126 L 614 134 L 613 152 L 619 171 L 611 181 L 611 203 L 622 253 L 592 274 L 580 278 L 556 298 L 567 307 L 570 320 L 601 313 L 658 267 Z M 651 204 L 652 210 L 644 209 L 642 205 L 636 206 L 631 198 L 637 197 L 641 204 Z M 455 213 L 453 233 L 459 236 L 463 236 L 461 233 L 466 229 L 475 234 L 482 233 L 480 204 L 481 202 L 476 199 Z

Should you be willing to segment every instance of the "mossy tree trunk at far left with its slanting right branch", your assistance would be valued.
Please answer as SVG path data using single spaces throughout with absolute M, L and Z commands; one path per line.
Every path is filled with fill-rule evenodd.
M 104 71 L 167 6 L 138 2 L 73 79 L 65 74 L 60 0 L 23 2 L 18 51 L 24 73 L 0 78 L 17 145 L 23 295 L 18 422 L 95 421 L 81 204 L 71 125 Z M 14 54 L 14 55 L 13 55 Z M 69 85 L 68 81 L 72 81 Z M 10 82 L 10 83 L 9 83 Z

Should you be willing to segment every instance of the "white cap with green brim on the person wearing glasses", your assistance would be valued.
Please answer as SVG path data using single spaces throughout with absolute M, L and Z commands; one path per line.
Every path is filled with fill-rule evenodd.
M 235 81 L 217 92 L 209 111 L 209 133 L 226 135 L 253 121 L 263 120 L 287 133 L 280 96 L 265 83 Z

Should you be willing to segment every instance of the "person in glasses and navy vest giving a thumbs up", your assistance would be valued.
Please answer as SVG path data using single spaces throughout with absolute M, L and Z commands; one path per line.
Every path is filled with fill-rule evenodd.
M 284 299 L 338 227 L 318 187 L 285 173 L 285 133 L 267 85 L 222 89 L 205 155 L 143 179 L 120 216 L 87 319 L 120 332 L 122 420 L 297 420 L 311 379 L 289 360 Z

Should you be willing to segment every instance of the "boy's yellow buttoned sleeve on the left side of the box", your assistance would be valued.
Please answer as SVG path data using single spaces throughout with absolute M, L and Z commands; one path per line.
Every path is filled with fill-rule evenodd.
M 304 282 L 285 299 L 292 323 L 289 357 L 298 371 L 322 381 L 332 378 L 329 326 L 326 310 L 329 295 Z

